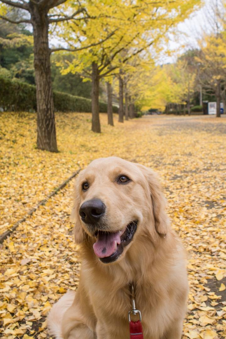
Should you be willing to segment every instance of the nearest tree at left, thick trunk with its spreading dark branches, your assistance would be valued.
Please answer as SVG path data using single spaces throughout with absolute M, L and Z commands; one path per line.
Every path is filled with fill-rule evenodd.
M 49 30 L 52 25 L 70 20 L 88 20 L 90 18 L 84 4 L 72 0 L 1 0 L 0 18 L 14 24 L 31 24 L 34 36 L 34 68 L 37 97 L 37 147 L 57 152 L 56 127 L 54 117 L 53 91 L 51 83 L 50 54 L 62 48 L 49 48 Z M 12 20 L 11 8 L 20 8 L 27 16 Z M 106 37 L 107 38 L 107 37 Z M 100 43 L 74 46 L 70 51 L 87 48 Z M 66 49 L 63 47 L 63 49 Z

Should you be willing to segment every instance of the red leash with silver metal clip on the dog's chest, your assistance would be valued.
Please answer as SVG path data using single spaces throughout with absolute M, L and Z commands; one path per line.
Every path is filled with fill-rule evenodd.
M 132 301 L 132 310 L 128 312 L 128 320 L 129 320 L 129 332 L 130 332 L 130 339 L 144 339 L 143 337 L 143 329 L 141 325 L 141 312 L 137 310 L 135 304 L 135 291 L 133 283 L 130 285 L 131 291 L 131 301 Z M 139 315 L 139 320 L 132 321 L 130 319 L 130 315 Z

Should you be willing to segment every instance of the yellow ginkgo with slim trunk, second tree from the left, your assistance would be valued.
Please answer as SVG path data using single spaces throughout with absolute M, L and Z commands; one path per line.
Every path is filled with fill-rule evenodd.
M 82 74 L 92 80 L 92 130 L 101 132 L 99 119 L 99 82 L 119 74 L 123 64 L 167 40 L 167 33 L 201 4 L 200 0 L 175 1 L 84 1 L 88 13 L 98 20 L 72 21 L 58 26 L 58 35 L 72 48 L 80 43 L 103 43 L 76 53 L 71 62 L 60 64 L 62 72 Z M 72 33 L 71 33 L 72 32 Z M 109 39 L 105 39 L 112 34 Z M 122 106 L 122 105 L 120 105 Z M 119 121 L 123 121 L 120 109 Z

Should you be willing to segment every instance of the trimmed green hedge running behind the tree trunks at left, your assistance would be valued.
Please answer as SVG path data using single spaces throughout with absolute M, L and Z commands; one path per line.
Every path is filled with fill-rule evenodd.
M 0 77 L 0 108 L 4 111 L 36 111 L 35 86 Z M 91 99 L 54 91 L 54 108 L 58 112 L 89 113 Z M 107 112 L 106 103 L 100 102 L 100 112 Z M 117 113 L 118 107 L 113 106 L 113 112 Z

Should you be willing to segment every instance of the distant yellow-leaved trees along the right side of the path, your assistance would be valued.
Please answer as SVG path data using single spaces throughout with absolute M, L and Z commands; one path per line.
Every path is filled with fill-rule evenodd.
M 198 40 L 198 48 L 189 49 L 174 64 L 156 67 L 153 71 L 149 96 L 154 96 L 152 106 L 166 113 L 191 112 L 191 104 L 202 105 L 203 100 L 217 101 L 226 112 L 226 1 L 218 0 L 208 8 L 209 33 Z M 145 96 L 145 100 L 148 95 Z

